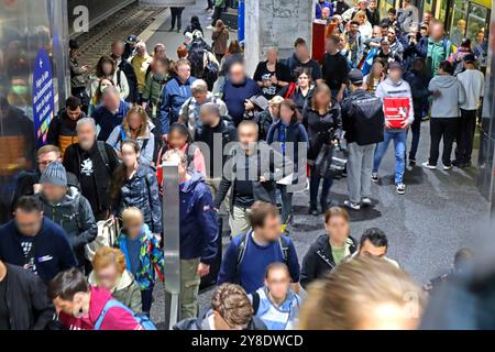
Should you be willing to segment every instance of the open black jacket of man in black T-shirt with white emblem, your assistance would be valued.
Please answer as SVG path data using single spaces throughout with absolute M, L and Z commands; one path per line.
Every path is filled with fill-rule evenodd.
M 103 158 L 98 150 L 97 142 L 95 142 L 95 145 L 88 152 L 95 172 L 95 187 L 96 194 L 98 195 L 98 199 L 91 199 L 91 197 L 88 197 L 88 194 L 92 193 L 88 193 L 88 190 L 84 189 L 85 187 L 81 185 L 81 194 L 91 204 L 91 209 L 95 216 L 103 211 L 107 211 L 111 208 L 109 195 L 110 180 L 111 176 L 113 175 L 113 172 L 119 166 L 119 158 L 117 157 L 113 147 L 111 145 L 105 144 L 105 151 L 107 152 L 109 161 L 108 165 L 106 165 L 103 162 Z M 80 180 L 80 168 L 82 163 L 81 155 L 84 153 L 85 152 L 81 150 L 79 144 L 73 144 L 67 148 L 64 155 L 65 169 L 67 170 L 67 173 L 73 173 L 74 175 L 76 175 L 76 177 L 79 180 Z

